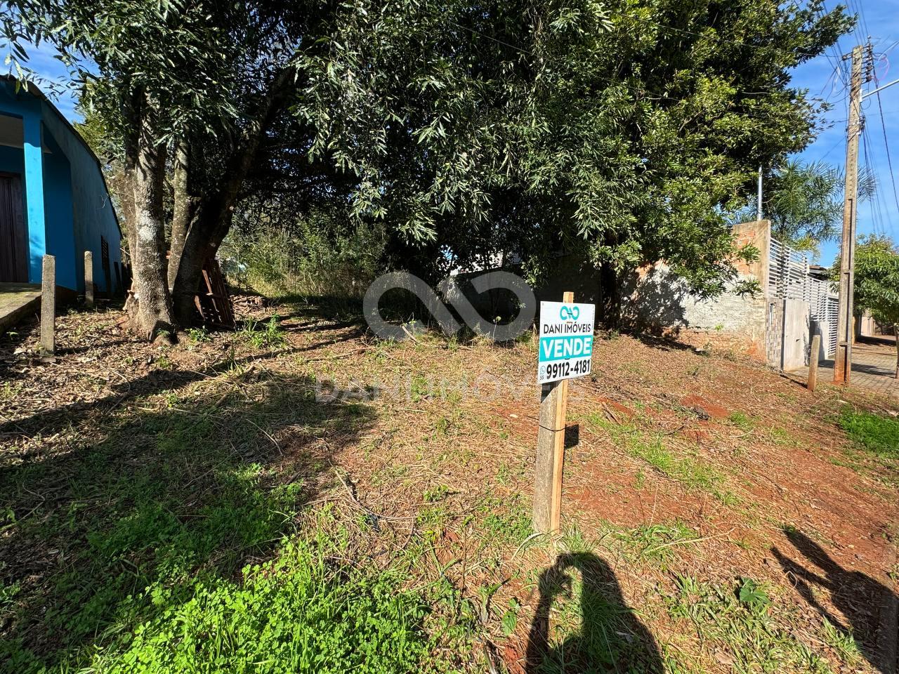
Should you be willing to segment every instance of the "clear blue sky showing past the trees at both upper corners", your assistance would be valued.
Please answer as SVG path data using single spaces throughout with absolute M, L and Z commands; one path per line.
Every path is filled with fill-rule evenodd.
M 837 0 L 827 0 L 828 8 L 836 4 Z M 849 6 L 851 13 L 859 14 L 856 30 L 843 36 L 826 55 L 798 67 L 792 81 L 793 86 L 808 89 L 813 97 L 833 104 L 832 110 L 824 116 L 826 128 L 800 156 L 806 161 L 820 160 L 841 167 L 846 159 L 846 84 L 850 67 L 849 61 L 842 61 L 841 56 L 850 53 L 856 44 L 864 43 L 870 36 L 874 44 L 876 74 L 880 84 L 899 78 L 899 6 L 895 0 L 850 0 Z M 58 59 L 53 58 L 54 53 L 44 45 L 40 49 L 31 49 L 31 68 L 49 80 L 65 84 L 69 80 L 67 69 Z M 872 89 L 873 85 L 873 82 L 868 83 L 865 88 Z M 63 93 L 56 99 L 56 103 L 69 120 L 78 119 L 75 98 L 71 93 Z M 859 204 L 859 234 L 886 232 L 899 242 L 899 204 L 896 203 L 899 199 L 893 192 L 884 142 L 886 129 L 893 170 L 899 178 L 899 84 L 880 93 L 883 124 L 877 103 L 877 96 L 872 96 L 862 105 L 867 131 L 859 144 L 859 164 L 872 166 L 877 174 L 879 190 L 877 200 Z M 825 242 L 821 246 L 819 262 L 829 265 L 839 251 L 839 242 Z

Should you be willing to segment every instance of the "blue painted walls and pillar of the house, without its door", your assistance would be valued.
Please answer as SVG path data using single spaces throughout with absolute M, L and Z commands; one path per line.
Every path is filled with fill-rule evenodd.
M 40 283 L 41 258 L 50 253 L 57 259 L 57 284 L 84 291 L 85 251 L 91 251 L 93 282 L 101 291 L 115 289 L 121 231 L 100 164 L 49 102 L 16 93 L 13 82 L 0 81 L 0 113 L 22 119 L 23 146 L 0 146 L 0 171 L 23 176 L 29 280 Z M 109 244 L 113 288 L 106 287 L 101 237 Z

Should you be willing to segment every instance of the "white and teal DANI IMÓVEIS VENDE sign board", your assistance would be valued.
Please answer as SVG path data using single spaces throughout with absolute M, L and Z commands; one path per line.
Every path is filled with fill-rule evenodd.
M 595 308 L 540 302 L 538 384 L 590 374 Z

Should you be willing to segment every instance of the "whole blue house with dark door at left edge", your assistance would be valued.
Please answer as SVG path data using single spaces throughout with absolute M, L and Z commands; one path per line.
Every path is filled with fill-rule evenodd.
M 40 283 L 56 256 L 57 285 L 121 289 L 121 229 L 102 166 L 84 138 L 34 86 L 0 77 L 0 282 Z

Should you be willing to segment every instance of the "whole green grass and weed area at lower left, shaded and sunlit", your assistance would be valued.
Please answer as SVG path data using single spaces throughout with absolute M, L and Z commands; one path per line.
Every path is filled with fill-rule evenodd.
M 437 640 L 467 638 L 471 627 L 462 607 L 441 615 L 449 590 L 410 590 L 405 565 L 345 563 L 358 541 L 328 508 L 303 518 L 300 531 L 316 482 L 304 476 L 322 468 L 311 457 L 302 463 L 300 451 L 290 468 L 300 473 L 280 474 L 267 460 L 271 436 L 289 428 L 340 442 L 370 421 L 367 408 L 323 409 L 303 385 L 263 378 L 244 383 L 236 406 L 188 395 L 140 412 L 162 402 L 151 397 L 104 417 L 90 439 L 71 436 L 71 453 L 5 464 L 7 553 L 60 563 L 35 567 L 27 582 L 8 580 L 22 570 L 0 565 L 0 669 L 448 667 Z M 52 500 L 40 497 L 50 492 Z

